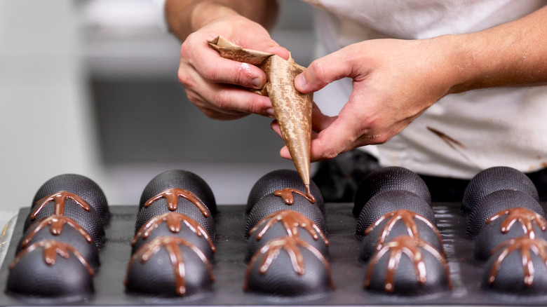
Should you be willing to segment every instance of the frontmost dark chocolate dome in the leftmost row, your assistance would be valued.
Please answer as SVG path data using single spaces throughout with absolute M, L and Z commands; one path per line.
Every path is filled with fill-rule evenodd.
M 34 245 L 36 248 L 31 245 L 18 254 L 11 264 L 6 292 L 25 298 L 58 298 L 64 301 L 80 301 L 93 294 L 93 270 L 77 257 L 77 252 L 66 246 L 55 246 L 55 241 L 39 243 L 46 242 L 53 245 Z M 46 249 L 49 251 L 45 252 Z M 63 253 L 66 257 L 62 256 Z M 46 263 L 47 254 L 54 256 L 54 264 Z

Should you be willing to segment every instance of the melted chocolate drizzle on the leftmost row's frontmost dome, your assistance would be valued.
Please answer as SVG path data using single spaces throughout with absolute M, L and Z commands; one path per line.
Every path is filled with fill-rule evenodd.
M 43 247 L 43 261 L 46 262 L 48 266 L 53 266 L 55 264 L 55 261 L 57 261 L 57 255 L 60 257 L 63 257 L 65 259 L 69 259 L 70 253 L 74 254 L 76 258 L 85 266 L 91 276 L 95 275 L 95 271 L 93 271 L 93 268 L 88 264 L 88 261 L 82 256 L 78 250 L 76 250 L 71 245 L 68 245 L 67 243 L 55 241 L 55 240 L 42 240 L 36 243 L 33 243 L 32 245 L 29 245 L 25 250 L 22 250 L 19 252 L 19 254 L 15 257 L 13 262 L 10 264 L 9 268 L 10 270 L 15 266 L 15 264 L 18 263 L 18 261 L 25 256 L 28 252 L 32 252 L 33 250 L 36 250 L 36 248 Z

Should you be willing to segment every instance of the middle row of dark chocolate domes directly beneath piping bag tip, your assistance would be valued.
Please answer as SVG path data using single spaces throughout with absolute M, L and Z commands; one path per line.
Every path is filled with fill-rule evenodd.
M 252 187 L 246 212 L 245 291 L 266 296 L 311 296 L 335 287 L 327 246 L 325 203 L 311 196 L 293 170 L 276 170 Z

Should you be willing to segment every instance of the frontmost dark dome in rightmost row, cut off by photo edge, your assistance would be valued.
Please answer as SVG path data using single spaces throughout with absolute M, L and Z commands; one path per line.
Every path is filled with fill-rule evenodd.
M 507 240 L 486 262 L 482 287 L 507 294 L 547 294 L 546 254 L 544 240 Z

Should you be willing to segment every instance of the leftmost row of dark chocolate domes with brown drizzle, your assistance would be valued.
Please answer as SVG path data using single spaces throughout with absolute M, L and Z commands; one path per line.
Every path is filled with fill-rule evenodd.
M 93 180 L 58 175 L 36 192 L 10 265 L 6 292 L 79 301 L 94 292 L 109 207 Z

